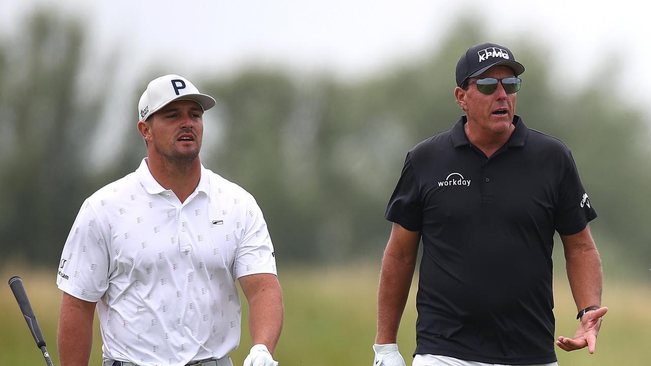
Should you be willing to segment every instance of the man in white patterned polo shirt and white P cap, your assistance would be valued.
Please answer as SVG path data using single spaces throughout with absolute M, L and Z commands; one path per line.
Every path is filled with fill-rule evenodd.
M 105 366 L 232 365 L 249 302 L 244 366 L 275 366 L 283 322 L 273 246 L 255 199 L 199 160 L 215 100 L 177 75 L 138 104 L 147 158 L 81 206 L 57 285 L 61 366 L 87 366 L 97 308 Z

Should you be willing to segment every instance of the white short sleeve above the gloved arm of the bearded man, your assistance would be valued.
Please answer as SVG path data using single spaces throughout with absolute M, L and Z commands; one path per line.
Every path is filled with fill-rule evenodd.
M 252 195 L 247 193 L 247 210 L 242 241 L 235 254 L 235 277 L 277 274 L 276 259 L 267 223 Z

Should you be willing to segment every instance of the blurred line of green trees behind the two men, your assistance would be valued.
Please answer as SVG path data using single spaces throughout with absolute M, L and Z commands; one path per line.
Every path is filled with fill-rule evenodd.
M 102 85 L 117 70 L 108 62 L 94 73 L 100 87 L 89 93 L 80 71 L 85 26 L 50 12 L 23 23 L 12 38 L 0 38 L 0 253 L 3 262 L 51 265 L 83 199 L 133 171 L 146 152 L 134 127 L 120 136 L 124 148 L 107 154 L 111 162 L 89 169 L 110 96 Z M 296 77 L 262 66 L 228 78 L 188 76 L 218 100 L 210 131 L 219 143 L 204 148 L 202 162 L 256 197 L 280 262 L 380 259 L 391 229 L 383 213 L 406 152 L 462 115 L 454 67 L 465 49 L 485 41 L 472 24 L 460 20 L 426 57 L 368 79 Z M 604 262 L 646 271 L 649 124 L 614 92 L 616 62 L 579 89 L 551 74 L 533 40 L 509 46 L 527 67 L 516 113 L 572 150 L 600 215 L 592 230 Z M 133 95 L 129 116 L 146 83 L 162 74 L 150 70 L 120 91 Z

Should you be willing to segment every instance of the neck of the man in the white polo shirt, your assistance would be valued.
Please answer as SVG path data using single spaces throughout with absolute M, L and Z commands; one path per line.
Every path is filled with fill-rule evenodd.
M 181 203 L 184 203 L 199 186 L 201 162 L 199 156 L 192 160 L 171 161 L 150 154 L 147 159 L 149 171 L 166 190 L 171 190 Z

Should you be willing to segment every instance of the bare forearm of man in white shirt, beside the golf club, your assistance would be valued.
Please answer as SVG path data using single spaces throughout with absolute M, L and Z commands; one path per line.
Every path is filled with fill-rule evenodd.
M 92 349 L 92 321 L 94 303 L 74 299 L 64 294 L 59 313 L 59 364 L 61 366 L 87 366 Z

